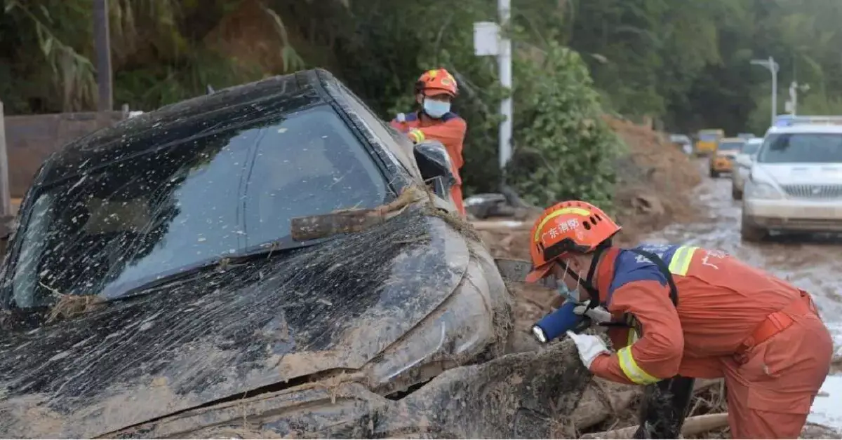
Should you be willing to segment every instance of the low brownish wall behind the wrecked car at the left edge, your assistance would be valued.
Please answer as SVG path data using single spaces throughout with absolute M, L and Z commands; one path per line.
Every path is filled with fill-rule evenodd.
M 125 116 L 127 114 L 120 111 L 6 116 L 8 177 L 12 197 L 24 197 L 41 162 L 51 153 L 71 140 L 114 125 Z

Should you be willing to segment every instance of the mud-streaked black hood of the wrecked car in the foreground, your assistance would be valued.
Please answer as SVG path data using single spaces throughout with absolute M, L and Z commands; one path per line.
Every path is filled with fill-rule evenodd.
M 68 321 L 4 329 L 0 437 L 94 437 L 360 368 L 446 300 L 468 260 L 443 220 L 408 212 Z

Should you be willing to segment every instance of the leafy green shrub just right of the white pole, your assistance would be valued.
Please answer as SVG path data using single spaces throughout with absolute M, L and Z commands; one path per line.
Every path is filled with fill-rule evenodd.
M 552 40 L 521 57 L 515 79 L 515 150 L 507 183 L 530 203 L 610 205 L 621 142 L 602 119 L 599 94 L 573 50 Z M 538 58 L 538 59 L 536 59 Z

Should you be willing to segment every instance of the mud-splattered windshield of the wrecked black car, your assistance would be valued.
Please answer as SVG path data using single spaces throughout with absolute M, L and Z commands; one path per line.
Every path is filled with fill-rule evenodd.
M 385 199 L 381 171 L 329 106 L 211 132 L 40 189 L 12 300 L 117 298 L 227 253 L 292 244 L 293 217 Z

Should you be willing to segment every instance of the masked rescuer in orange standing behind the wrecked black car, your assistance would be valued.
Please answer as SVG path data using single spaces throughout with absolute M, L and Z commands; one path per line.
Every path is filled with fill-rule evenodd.
M 438 140 L 444 144 L 453 162 L 453 175 L 456 183 L 450 189 L 453 203 L 462 216 L 465 207 L 462 204 L 462 179 L 459 170 L 462 160 L 462 145 L 465 142 L 467 125 L 465 119 L 450 111 L 450 102 L 456 98 L 458 87 L 456 79 L 445 69 L 424 72 L 415 82 L 415 100 L 420 109 L 413 113 L 398 114 L 392 119 L 392 127 L 406 133 L 413 143 L 427 139 Z

